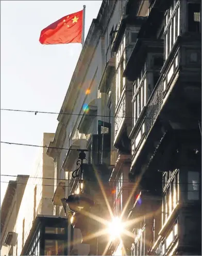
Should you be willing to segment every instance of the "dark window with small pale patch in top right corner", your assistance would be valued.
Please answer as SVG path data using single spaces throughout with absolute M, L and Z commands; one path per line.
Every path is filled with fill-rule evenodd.
M 189 32 L 200 30 L 200 4 L 188 4 L 188 30 Z

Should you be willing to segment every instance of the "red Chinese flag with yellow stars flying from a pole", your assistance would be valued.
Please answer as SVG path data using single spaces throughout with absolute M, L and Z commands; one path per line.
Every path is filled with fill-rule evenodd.
M 41 31 L 41 44 L 81 43 L 83 10 L 54 22 Z

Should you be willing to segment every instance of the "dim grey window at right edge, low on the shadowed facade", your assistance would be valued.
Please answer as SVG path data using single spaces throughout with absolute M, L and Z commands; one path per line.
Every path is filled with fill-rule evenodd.
M 199 200 L 199 172 L 188 172 L 188 200 Z

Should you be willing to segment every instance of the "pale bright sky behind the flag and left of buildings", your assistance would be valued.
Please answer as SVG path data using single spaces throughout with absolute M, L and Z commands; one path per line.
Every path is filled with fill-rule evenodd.
M 1 1 L 1 108 L 59 112 L 81 44 L 42 45 L 41 30 L 86 5 L 85 37 L 102 1 Z M 1 141 L 41 145 L 54 114 L 1 110 Z M 1 143 L 1 202 L 9 180 L 29 175 L 39 148 Z M 15 175 L 5 177 L 3 175 Z

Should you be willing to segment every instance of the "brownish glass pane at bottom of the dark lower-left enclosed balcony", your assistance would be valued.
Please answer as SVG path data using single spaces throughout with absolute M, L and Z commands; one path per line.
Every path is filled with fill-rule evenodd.
M 64 244 L 62 240 L 45 240 L 45 255 L 64 255 Z

